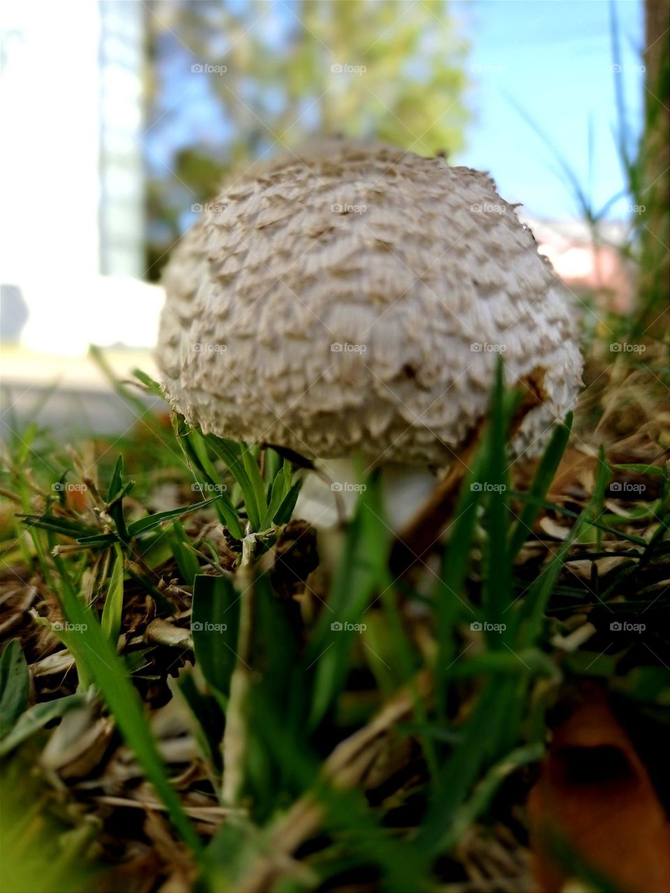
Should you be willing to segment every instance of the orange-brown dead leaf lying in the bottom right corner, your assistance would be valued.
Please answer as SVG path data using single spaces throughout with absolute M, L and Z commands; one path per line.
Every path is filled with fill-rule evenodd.
M 574 881 L 555 842 L 622 890 L 670 889 L 670 825 L 607 700 L 589 690 L 557 730 L 528 802 L 533 872 L 546 893 Z

